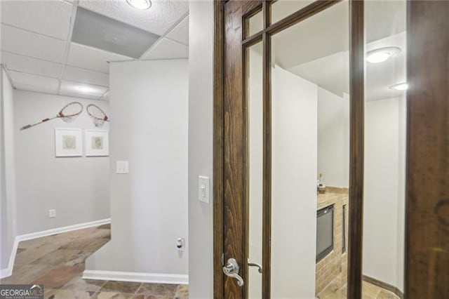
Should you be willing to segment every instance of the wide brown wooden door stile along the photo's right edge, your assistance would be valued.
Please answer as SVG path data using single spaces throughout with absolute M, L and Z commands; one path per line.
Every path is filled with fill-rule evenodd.
M 404 295 L 449 298 L 449 3 L 408 1 Z

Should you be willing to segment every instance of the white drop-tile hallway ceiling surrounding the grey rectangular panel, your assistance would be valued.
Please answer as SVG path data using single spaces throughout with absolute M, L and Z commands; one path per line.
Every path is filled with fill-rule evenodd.
M 1 0 L 0 6 L 0 62 L 18 89 L 107 99 L 109 62 L 135 59 L 72 42 L 79 6 L 161 36 L 140 60 L 188 58 L 187 1 L 154 0 L 145 11 L 126 0 Z

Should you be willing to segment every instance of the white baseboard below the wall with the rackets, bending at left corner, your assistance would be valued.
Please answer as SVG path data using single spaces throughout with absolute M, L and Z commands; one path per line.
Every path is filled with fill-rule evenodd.
M 17 248 L 20 241 L 26 241 L 31 239 L 36 239 L 40 237 L 51 236 L 52 234 L 60 234 L 62 232 L 71 232 L 72 230 L 81 230 L 83 228 L 95 227 L 99 225 L 105 225 L 111 223 L 111 218 L 96 220 L 91 222 L 80 223 L 77 225 L 69 225 L 65 227 L 53 228 L 51 230 L 43 230 L 41 232 L 32 232 L 31 234 L 21 234 L 20 236 L 15 237 L 13 250 L 11 251 L 11 255 L 9 257 L 8 267 L 6 269 L 0 270 L 0 279 L 11 276 L 13 274 L 15 253 L 17 252 Z

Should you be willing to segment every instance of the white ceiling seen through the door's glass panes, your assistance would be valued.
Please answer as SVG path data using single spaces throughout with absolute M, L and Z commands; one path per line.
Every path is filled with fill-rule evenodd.
M 286 15 L 288 9 L 283 4 L 277 13 Z M 275 34 L 272 47 L 276 64 L 336 95 L 349 93 L 348 20 L 344 1 Z M 401 48 L 385 62 L 366 64 L 366 99 L 403 94 L 389 86 L 406 81 L 406 1 L 366 1 L 366 41 L 366 51 Z

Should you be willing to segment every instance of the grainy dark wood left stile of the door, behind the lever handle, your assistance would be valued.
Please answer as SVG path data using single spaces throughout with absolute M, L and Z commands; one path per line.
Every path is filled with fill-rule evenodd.
M 229 259 L 239 265 L 237 273 L 246 281 L 247 237 L 246 232 L 246 102 L 243 96 L 243 16 L 260 6 L 259 1 L 227 1 L 222 4 L 223 34 L 223 83 L 222 90 L 222 266 Z M 219 216 L 220 217 L 220 216 Z M 222 294 L 217 297 L 246 298 L 247 284 L 239 285 L 234 277 L 222 275 Z

